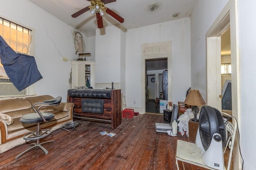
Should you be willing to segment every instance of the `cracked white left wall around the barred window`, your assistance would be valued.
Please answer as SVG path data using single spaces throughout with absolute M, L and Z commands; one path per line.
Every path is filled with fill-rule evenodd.
M 71 64 L 70 61 L 62 61 L 62 57 L 69 60 L 77 57 L 74 29 L 28 0 L 2 0 L 0 15 L 33 29 L 34 57 L 43 76 L 35 83 L 36 94 L 62 96 L 62 102 L 66 102 Z M 83 40 L 88 43 L 85 35 Z

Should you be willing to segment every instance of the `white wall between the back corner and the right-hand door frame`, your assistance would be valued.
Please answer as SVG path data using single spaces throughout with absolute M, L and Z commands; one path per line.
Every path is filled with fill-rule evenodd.
M 197 0 L 191 15 L 191 86 L 206 101 L 205 34 L 228 0 Z

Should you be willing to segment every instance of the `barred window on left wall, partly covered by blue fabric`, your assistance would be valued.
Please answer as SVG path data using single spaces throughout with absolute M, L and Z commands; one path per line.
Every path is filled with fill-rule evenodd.
M 0 35 L 14 51 L 30 55 L 30 32 L 30 29 L 0 17 Z M 34 95 L 34 86 L 18 91 L 12 82 L 10 82 L 3 65 L 0 63 L 0 98 L 28 96 L 32 94 Z

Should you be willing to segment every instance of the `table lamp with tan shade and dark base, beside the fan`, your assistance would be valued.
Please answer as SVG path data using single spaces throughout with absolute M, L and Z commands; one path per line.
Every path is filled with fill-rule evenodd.
M 194 118 L 192 119 L 192 121 L 198 121 L 196 116 L 199 112 L 199 108 L 197 106 L 205 105 L 204 99 L 202 98 L 199 90 L 191 89 L 188 92 L 188 96 L 186 97 L 184 103 L 192 106 L 192 112 L 194 113 Z

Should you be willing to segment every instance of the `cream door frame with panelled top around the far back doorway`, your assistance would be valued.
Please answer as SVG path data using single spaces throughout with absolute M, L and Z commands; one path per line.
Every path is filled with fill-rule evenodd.
M 172 101 L 172 58 L 171 58 L 171 41 L 156 42 L 156 43 L 145 43 L 141 45 L 141 113 L 146 113 L 146 60 L 148 59 L 163 59 L 167 58 L 167 69 L 168 69 L 168 102 Z M 157 48 L 167 46 L 165 53 L 154 53 L 147 55 L 147 48 Z

